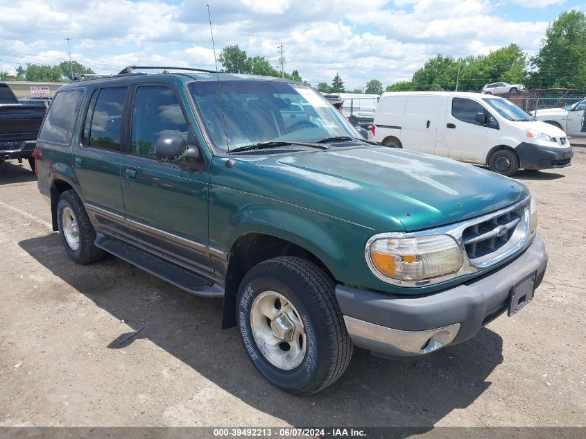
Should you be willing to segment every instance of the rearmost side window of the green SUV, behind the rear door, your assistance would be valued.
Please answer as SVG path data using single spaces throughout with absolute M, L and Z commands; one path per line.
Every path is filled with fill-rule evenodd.
M 83 90 L 59 92 L 53 99 L 49 114 L 39 133 L 39 140 L 69 145 L 74 136 L 76 119 L 81 105 Z

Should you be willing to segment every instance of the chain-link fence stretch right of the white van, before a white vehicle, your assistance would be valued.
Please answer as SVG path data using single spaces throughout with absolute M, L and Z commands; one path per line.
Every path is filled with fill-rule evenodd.
M 565 131 L 574 146 L 586 146 L 586 96 L 503 96 L 539 121 Z

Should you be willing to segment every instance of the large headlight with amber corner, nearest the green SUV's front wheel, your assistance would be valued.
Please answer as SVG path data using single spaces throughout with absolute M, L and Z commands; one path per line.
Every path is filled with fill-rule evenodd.
M 463 264 L 460 246 L 445 234 L 375 239 L 366 256 L 372 270 L 411 282 L 455 273 Z

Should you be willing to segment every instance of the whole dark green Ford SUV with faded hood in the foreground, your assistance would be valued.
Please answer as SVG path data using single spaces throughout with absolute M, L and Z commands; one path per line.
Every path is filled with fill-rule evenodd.
M 311 121 L 285 129 L 283 102 L 301 98 Z M 71 259 L 110 252 L 223 298 L 223 327 L 291 393 L 336 381 L 353 345 L 422 356 L 466 341 L 530 302 L 546 269 L 524 184 L 365 141 L 281 78 L 64 85 L 35 157 Z

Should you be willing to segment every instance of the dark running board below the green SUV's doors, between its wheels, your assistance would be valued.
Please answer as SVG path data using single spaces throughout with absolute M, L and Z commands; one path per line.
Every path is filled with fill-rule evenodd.
M 135 246 L 99 234 L 96 236 L 96 246 L 188 293 L 207 298 L 224 297 L 224 289 L 221 286 Z

